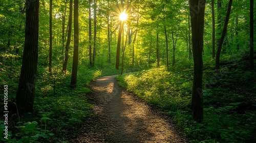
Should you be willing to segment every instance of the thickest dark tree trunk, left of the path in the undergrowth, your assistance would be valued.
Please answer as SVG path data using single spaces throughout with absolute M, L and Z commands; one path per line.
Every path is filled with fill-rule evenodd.
M 26 1 L 26 28 L 22 70 L 16 94 L 20 115 L 33 112 L 38 59 L 39 0 Z

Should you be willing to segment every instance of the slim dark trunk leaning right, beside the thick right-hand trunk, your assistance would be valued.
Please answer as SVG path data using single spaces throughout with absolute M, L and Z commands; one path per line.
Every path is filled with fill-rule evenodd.
M 223 27 L 222 35 L 221 35 L 221 38 L 220 38 L 220 42 L 218 43 L 218 49 L 217 49 L 216 60 L 215 60 L 215 69 L 220 69 L 221 47 L 222 47 L 225 35 L 227 33 L 227 24 L 228 24 L 228 20 L 229 20 L 229 15 L 230 15 L 230 11 L 231 11 L 232 2 L 233 2 L 233 0 L 229 0 L 229 3 L 228 3 L 228 8 L 227 8 L 227 14 L 226 14 L 225 22 L 224 22 L 224 27 Z

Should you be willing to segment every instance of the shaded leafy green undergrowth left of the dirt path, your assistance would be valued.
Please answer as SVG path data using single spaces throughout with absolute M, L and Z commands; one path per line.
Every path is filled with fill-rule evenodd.
M 8 73 L 7 71 L 2 70 L 3 73 Z M 18 84 L 15 79 L 18 79 L 19 75 L 15 71 L 18 70 L 13 71 L 12 77 L 7 74 L 6 78 L 1 78 L 2 83 L 9 87 L 9 105 L 13 105 L 12 113 L 16 111 L 14 98 Z M 84 120 L 93 115 L 92 105 L 88 103 L 87 98 L 87 93 L 91 92 L 88 85 L 96 77 L 111 75 L 114 66 L 113 69 L 108 67 L 100 69 L 97 66 L 87 67 L 80 64 L 77 85 L 74 89 L 70 88 L 69 71 L 64 74 L 57 66 L 52 69 L 52 75 L 47 71 L 46 66 L 38 65 L 34 112 L 20 117 L 15 113 L 9 117 L 9 137 L 5 140 L 1 134 L 2 141 L 66 142 L 75 137 Z M 116 74 L 117 72 L 119 71 L 117 70 Z M 3 102 L 1 107 L 2 104 Z M 3 130 L 4 123 L 0 122 L 0 131 Z

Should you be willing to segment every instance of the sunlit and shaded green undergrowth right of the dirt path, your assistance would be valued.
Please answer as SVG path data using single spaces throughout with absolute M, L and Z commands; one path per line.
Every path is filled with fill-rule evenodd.
M 152 68 L 118 76 L 119 84 L 138 97 L 166 110 L 190 142 L 255 142 L 256 75 L 248 61 L 223 60 L 220 72 L 214 61 L 204 64 L 204 122 L 191 118 L 191 67 Z M 177 66 L 181 67 L 181 66 Z

